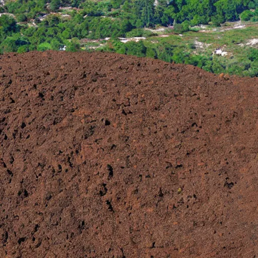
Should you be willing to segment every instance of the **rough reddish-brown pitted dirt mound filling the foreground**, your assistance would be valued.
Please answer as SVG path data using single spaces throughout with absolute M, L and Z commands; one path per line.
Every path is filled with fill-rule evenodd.
M 258 257 L 258 79 L 86 52 L 0 67 L 0 257 Z

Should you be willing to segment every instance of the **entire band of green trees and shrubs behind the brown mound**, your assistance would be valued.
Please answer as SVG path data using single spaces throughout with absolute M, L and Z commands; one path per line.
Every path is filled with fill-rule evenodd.
M 258 76 L 258 0 L 7 0 L 0 13 L 0 53 L 31 50 L 114 51 L 189 63 L 213 73 Z M 54 13 L 52 13 L 54 12 Z M 51 14 L 52 13 L 52 14 Z M 12 14 L 12 15 L 11 15 Z M 229 21 L 253 23 L 241 30 L 200 33 L 200 24 L 212 30 Z M 165 26 L 169 37 L 146 27 Z M 172 27 L 173 26 L 173 27 Z M 173 28 L 173 29 L 172 29 Z M 208 28 L 208 29 L 209 29 Z M 184 34 L 180 37 L 176 34 Z M 111 38 L 82 44 L 82 39 Z M 118 37 L 146 37 L 121 43 Z M 196 39 L 198 38 L 198 39 Z M 196 41 L 204 44 L 200 48 Z M 99 47 L 98 47 L 99 46 Z M 224 47 L 226 56 L 213 55 Z

